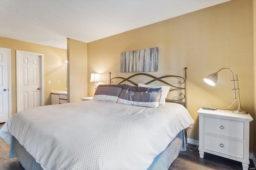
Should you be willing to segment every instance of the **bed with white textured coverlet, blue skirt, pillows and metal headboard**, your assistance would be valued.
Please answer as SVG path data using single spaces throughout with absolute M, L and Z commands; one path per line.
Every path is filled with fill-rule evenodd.
M 0 136 L 11 146 L 9 157 L 17 156 L 26 170 L 168 169 L 186 150 L 184 129 L 194 124 L 186 109 L 184 70 L 184 78 L 110 74 L 110 84 L 98 86 L 94 100 L 20 111 L 3 125 Z M 152 80 L 136 84 L 130 80 L 134 76 Z M 112 84 L 116 78 L 122 81 Z M 164 78 L 180 78 L 182 87 Z M 165 87 L 149 85 L 155 81 L 171 86 L 168 92 L 182 90 L 181 98 L 166 99 Z

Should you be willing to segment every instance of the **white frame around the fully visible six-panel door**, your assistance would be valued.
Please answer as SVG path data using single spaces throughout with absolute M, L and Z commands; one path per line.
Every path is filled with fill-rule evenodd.
M 16 90 L 17 90 L 17 112 L 20 111 L 19 110 L 19 54 L 23 53 L 23 54 L 32 54 L 32 55 L 38 55 L 40 57 L 40 76 L 41 76 L 41 106 L 44 106 L 44 54 L 41 53 L 33 53 L 33 52 L 28 52 L 28 51 L 20 51 L 20 50 L 16 50 Z

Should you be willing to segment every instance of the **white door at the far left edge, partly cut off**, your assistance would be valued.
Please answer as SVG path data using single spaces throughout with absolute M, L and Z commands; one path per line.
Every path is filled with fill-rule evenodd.
M 10 49 L 0 49 L 0 123 L 9 118 L 9 75 L 8 58 Z

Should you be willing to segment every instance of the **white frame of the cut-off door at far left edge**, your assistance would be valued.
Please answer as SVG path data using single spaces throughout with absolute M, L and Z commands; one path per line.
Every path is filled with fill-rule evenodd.
M 11 49 L 0 47 L 0 50 L 8 51 L 8 116 L 12 116 L 12 84 L 11 84 Z

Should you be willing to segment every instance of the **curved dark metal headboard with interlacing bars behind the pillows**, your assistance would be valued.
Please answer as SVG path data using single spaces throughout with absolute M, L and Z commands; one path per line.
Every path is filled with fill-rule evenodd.
M 159 81 L 161 82 L 163 85 L 168 85 L 168 86 L 171 86 L 172 89 L 169 90 L 169 92 L 172 92 L 174 90 L 184 90 L 184 93 L 180 93 L 179 96 L 182 96 L 182 98 L 180 99 L 166 99 L 166 102 L 174 102 L 174 103 L 178 103 L 178 104 L 182 104 L 184 107 L 186 107 L 187 109 L 187 68 L 185 67 L 184 68 L 184 71 L 185 71 L 185 74 L 184 74 L 184 77 L 181 77 L 181 76 L 174 76 L 174 75 L 168 75 L 168 76 L 161 76 L 161 77 L 155 77 L 155 76 L 152 76 L 150 74 L 146 74 L 146 73 L 137 73 L 137 74 L 133 74 L 132 76 L 128 77 L 128 78 L 124 78 L 124 77 L 114 77 L 114 78 L 111 78 L 111 72 L 109 73 L 109 84 L 112 84 L 112 80 L 115 79 L 115 78 L 119 78 L 119 79 L 122 79 L 122 81 L 120 81 L 118 84 L 122 84 L 124 82 L 130 82 L 132 84 L 134 84 L 135 86 L 138 86 L 137 83 L 133 82 L 132 80 L 130 80 L 130 78 L 132 77 L 135 77 L 135 76 L 139 76 L 139 75 L 144 75 L 144 76 L 148 76 L 150 78 L 152 78 L 152 80 L 150 80 L 149 82 L 146 82 L 144 84 L 150 84 L 152 82 L 155 82 L 155 81 Z M 184 84 L 183 87 L 177 87 L 177 86 L 174 86 L 164 80 L 162 80 L 163 78 L 167 78 L 167 77 L 174 77 L 174 78 L 179 78 L 181 79 L 180 81 L 178 81 L 179 84 Z M 184 100 L 184 102 L 183 102 Z

